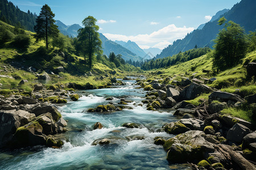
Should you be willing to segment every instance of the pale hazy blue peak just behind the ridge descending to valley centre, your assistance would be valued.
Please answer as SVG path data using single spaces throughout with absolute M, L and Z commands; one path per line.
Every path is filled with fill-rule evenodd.
M 124 48 L 129 49 L 131 52 L 135 53 L 137 56 L 142 58 L 148 58 L 147 54 L 141 49 L 136 42 L 133 41 L 115 41 L 117 44 L 122 45 Z

